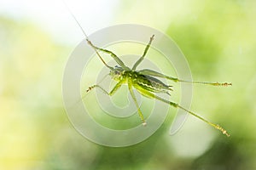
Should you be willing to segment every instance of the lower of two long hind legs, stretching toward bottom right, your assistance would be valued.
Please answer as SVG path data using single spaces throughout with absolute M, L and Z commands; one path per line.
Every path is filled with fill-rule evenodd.
M 160 98 L 159 96 L 155 95 L 155 94 L 152 94 L 151 92 L 148 92 L 147 90 L 143 89 L 143 88 L 137 88 L 138 92 L 143 94 L 144 96 L 148 97 L 148 98 L 154 98 L 154 99 L 158 99 L 162 102 L 165 102 L 166 104 L 168 105 L 172 105 L 173 107 L 176 107 L 176 108 L 179 108 L 179 109 L 182 109 L 183 111 L 187 111 L 190 115 L 193 115 L 197 118 L 199 118 L 201 121 L 203 122 L 207 122 L 207 124 L 211 125 L 212 127 L 215 127 L 216 129 L 218 129 L 219 131 L 221 131 L 222 133 L 224 133 L 226 136 L 230 136 L 230 134 L 223 128 L 223 127 L 220 127 L 218 124 L 214 124 L 212 122 L 209 122 L 207 121 L 205 118 L 195 114 L 194 112 L 192 111 L 189 111 L 185 108 L 183 108 L 183 106 L 181 105 L 178 105 L 177 103 L 174 103 L 172 101 L 168 101 L 166 99 L 162 99 Z

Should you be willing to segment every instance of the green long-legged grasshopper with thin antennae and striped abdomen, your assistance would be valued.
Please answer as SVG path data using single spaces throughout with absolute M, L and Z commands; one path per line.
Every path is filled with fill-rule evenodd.
M 76 23 L 80 27 L 81 31 L 83 31 L 85 39 L 88 42 L 88 44 L 90 45 L 90 47 L 94 49 L 94 51 L 96 52 L 96 55 L 99 57 L 99 59 L 102 60 L 102 63 L 105 66 L 107 66 L 108 69 L 110 70 L 109 76 L 112 77 L 112 79 L 114 81 L 117 81 L 116 85 L 113 87 L 113 89 L 110 92 L 108 92 L 107 90 L 102 88 L 100 85 L 95 84 L 93 86 L 90 86 L 86 90 L 86 93 L 90 92 L 90 90 L 92 90 L 93 88 L 100 88 L 104 94 L 108 94 L 109 96 L 112 96 L 117 90 L 119 90 L 119 88 L 123 84 L 128 84 L 128 88 L 129 88 L 129 92 L 131 94 L 131 98 L 133 99 L 135 105 L 137 106 L 137 113 L 138 113 L 139 117 L 141 118 L 141 120 L 143 122 L 143 126 L 146 126 L 147 122 L 145 121 L 144 116 L 143 116 L 143 112 L 141 111 L 141 109 L 140 109 L 140 107 L 137 103 L 137 99 L 136 99 L 136 96 L 133 92 L 133 88 L 137 89 L 137 91 L 140 94 L 142 94 L 143 96 L 145 96 L 147 98 L 158 99 L 158 100 L 166 103 L 167 105 L 172 105 L 173 107 L 182 109 L 183 111 L 187 111 L 189 114 L 201 119 L 201 121 L 207 122 L 207 124 L 211 125 L 212 127 L 215 127 L 216 129 L 218 129 L 219 131 L 224 133 L 226 136 L 228 136 L 228 137 L 230 136 L 230 134 L 227 133 L 227 131 L 223 127 L 220 127 L 218 124 L 209 122 L 206 119 L 204 119 L 203 117 L 198 116 L 194 112 L 183 108 L 183 106 L 178 105 L 177 103 L 174 103 L 172 101 L 168 101 L 166 99 L 163 99 L 163 98 L 159 97 L 158 95 L 156 95 L 156 94 L 160 94 L 160 93 L 169 94 L 169 92 L 172 91 L 172 86 L 166 85 L 164 82 L 161 82 L 159 79 L 157 79 L 155 77 L 166 78 L 168 80 L 172 80 L 173 82 L 189 82 L 189 81 L 180 80 L 176 77 L 169 77 L 169 76 L 166 76 L 166 75 L 164 75 L 160 72 L 152 71 L 152 70 L 148 70 L 148 69 L 144 69 L 144 70 L 141 70 L 141 71 L 136 70 L 137 65 L 142 63 L 143 59 L 145 58 L 145 56 L 148 52 L 148 48 L 150 47 L 152 41 L 154 40 L 154 35 L 152 37 L 150 37 L 148 45 L 144 49 L 143 55 L 139 59 L 137 59 L 137 62 L 132 66 L 132 68 L 129 68 L 128 66 L 126 66 L 124 64 L 124 62 L 121 59 L 119 59 L 119 57 L 116 54 L 113 54 L 113 52 L 109 51 L 108 49 L 98 48 L 92 42 L 90 42 L 90 40 L 87 37 L 84 29 L 82 28 L 82 26 L 80 26 L 79 21 L 76 19 L 76 17 L 73 15 L 73 13 L 70 10 L 69 10 L 69 12 L 72 14 L 73 19 L 76 21 Z M 98 51 L 101 51 L 105 54 L 109 54 L 116 61 L 116 63 L 118 65 L 116 65 L 115 67 L 112 67 L 112 66 L 108 65 L 104 61 L 104 59 L 102 59 L 102 56 L 99 54 Z M 230 86 L 230 85 L 232 85 L 231 83 L 228 83 L 228 82 L 224 82 L 224 83 L 219 83 L 219 82 L 190 82 L 190 83 L 208 84 L 208 85 L 212 85 L 212 86 Z

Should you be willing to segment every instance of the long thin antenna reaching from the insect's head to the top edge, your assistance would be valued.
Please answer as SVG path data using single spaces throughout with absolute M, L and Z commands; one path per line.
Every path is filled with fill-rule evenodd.
M 85 40 L 89 43 L 90 47 L 92 47 L 92 48 L 94 49 L 94 51 L 96 52 L 97 56 L 102 60 L 102 63 L 103 63 L 104 65 L 106 65 L 106 66 L 108 67 L 108 69 L 110 69 L 110 70 L 113 71 L 113 67 L 107 65 L 107 63 L 102 59 L 102 56 L 101 56 L 101 55 L 98 53 L 98 51 L 96 50 L 95 46 L 92 44 L 92 42 L 90 42 L 90 40 L 89 40 L 87 34 L 85 33 L 83 27 L 79 24 L 79 21 L 77 20 L 77 18 L 75 17 L 75 15 L 74 15 L 73 12 L 71 11 L 71 9 L 67 6 L 67 3 L 66 3 L 64 0 L 62 0 L 62 1 L 63 1 L 63 3 L 65 4 L 65 6 L 66 6 L 66 8 L 67 8 L 67 10 L 68 10 L 68 12 L 69 12 L 69 14 L 71 14 L 71 16 L 73 17 L 73 20 L 76 21 L 76 23 L 77 23 L 77 25 L 79 26 L 80 30 L 83 32 L 84 37 L 85 37 Z

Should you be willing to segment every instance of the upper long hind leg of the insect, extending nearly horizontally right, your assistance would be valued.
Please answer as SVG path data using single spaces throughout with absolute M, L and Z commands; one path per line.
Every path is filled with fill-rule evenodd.
M 164 74 L 161 74 L 160 72 L 151 71 L 151 70 L 148 70 L 148 69 L 138 71 L 138 72 L 143 74 L 143 75 L 147 75 L 147 76 L 166 78 L 166 79 L 172 80 L 173 82 L 190 82 L 190 81 L 180 80 L 180 79 L 175 78 L 175 77 L 169 77 L 169 76 L 166 76 Z M 190 83 L 208 84 L 208 85 L 212 85 L 212 86 L 231 86 L 232 85 L 232 83 L 230 83 L 230 82 L 190 82 Z

